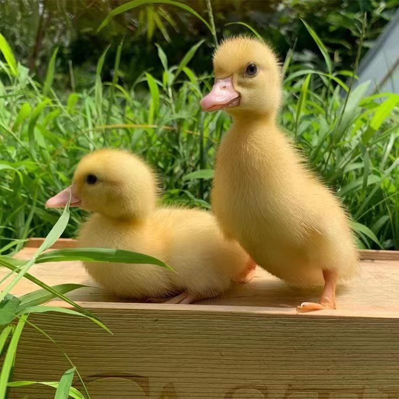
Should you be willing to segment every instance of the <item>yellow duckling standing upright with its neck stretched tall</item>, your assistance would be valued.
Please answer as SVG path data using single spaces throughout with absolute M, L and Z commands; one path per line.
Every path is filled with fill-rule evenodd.
M 282 72 L 260 40 L 225 40 L 213 58 L 215 84 L 204 111 L 224 109 L 233 125 L 217 151 L 212 209 L 225 233 L 253 260 L 290 285 L 323 286 L 319 303 L 335 309 L 337 283 L 350 279 L 358 255 L 349 219 L 306 167 L 276 124 Z

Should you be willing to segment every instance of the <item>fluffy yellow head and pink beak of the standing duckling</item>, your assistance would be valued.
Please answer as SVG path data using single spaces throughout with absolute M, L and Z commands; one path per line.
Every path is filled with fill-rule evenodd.
M 224 108 L 233 117 L 274 116 L 281 101 L 281 68 L 265 43 L 249 37 L 226 39 L 214 54 L 215 84 L 201 100 L 204 111 Z

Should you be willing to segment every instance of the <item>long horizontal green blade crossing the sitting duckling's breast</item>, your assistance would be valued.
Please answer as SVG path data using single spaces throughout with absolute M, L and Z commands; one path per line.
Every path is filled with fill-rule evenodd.
M 112 263 L 138 263 L 161 266 L 173 271 L 173 269 L 149 255 L 139 254 L 118 249 L 106 248 L 64 248 L 53 250 L 40 255 L 36 263 L 85 261 L 85 262 L 112 262 Z

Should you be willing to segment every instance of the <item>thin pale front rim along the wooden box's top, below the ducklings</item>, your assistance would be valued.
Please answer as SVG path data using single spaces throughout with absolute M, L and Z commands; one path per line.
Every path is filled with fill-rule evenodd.
M 101 311 L 124 311 L 124 312 L 193 312 L 198 314 L 214 314 L 220 316 L 240 315 L 264 315 L 264 316 L 292 316 L 292 317 L 327 317 L 327 318 L 366 318 L 366 319 L 399 319 L 399 307 L 389 309 L 370 309 L 366 306 L 357 309 L 335 309 L 316 311 L 297 311 L 295 308 L 278 308 L 262 306 L 234 306 L 234 305 L 201 305 L 201 304 L 159 304 L 159 303 L 131 303 L 131 302 L 84 302 L 77 301 L 78 305 L 99 314 Z M 68 303 L 61 300 L 53 300 L 46 305 L 59 306 L 74 309 Z M 45 306 L 46 306 L 45 305 Z M 76 309 L 75 309 L 76 310 Z

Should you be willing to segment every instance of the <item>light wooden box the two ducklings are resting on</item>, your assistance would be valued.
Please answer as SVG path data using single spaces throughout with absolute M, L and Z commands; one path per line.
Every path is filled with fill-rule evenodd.
M 57 246 L 65 245 L 74 242 Z M 65 351 L 93 399 L 399 398 L 399 253 L 364 251 L 362 259 L 335 311 L 298 313 L 296 305 L 320 292 L 287 288 L 262 270 L 251 283 L 193 305 L 127 303 L 102 289 L 77 290 L 69 296 L 114 335 L 81 317 L 31 315 L 57 346 L 27 326 L 14 379 L 58 380 L 71 367 Z M 79 262 L 39 264 L 31 273 L 50 285 L 93 285 Z M 35 289 L 24 280 L 14 293 Z M 74 386 L 81 390 L 77 379 Z M 10 398 L 54 392 L 31 385 L 13 388 Z

